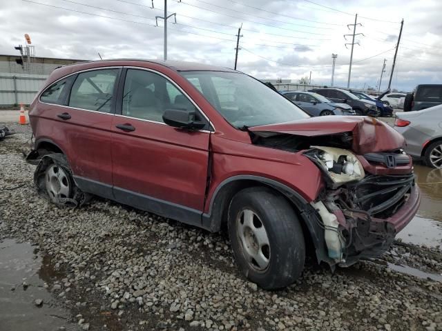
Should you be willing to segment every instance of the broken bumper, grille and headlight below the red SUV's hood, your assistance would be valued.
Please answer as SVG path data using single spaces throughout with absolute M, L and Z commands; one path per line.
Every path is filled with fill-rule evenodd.
M 356 156 L 348 150 L 320 146 L 304 154 L 323 170 L 327 183 L 311 206 L 323 221 L 328 257 L 346 266 L 390 248 L 419 207 L 410 157 L 401 150 Z M 397 174 L 394 168 L 389 174 L 365 172 L 363 164 L 371 165 L 367 159 L 384 160 L 386 169 L 392 160 L 394 165 L 408 165 L 410 172 Z

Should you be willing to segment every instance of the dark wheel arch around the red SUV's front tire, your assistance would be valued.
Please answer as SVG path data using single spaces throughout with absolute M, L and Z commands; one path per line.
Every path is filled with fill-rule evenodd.
M 254 181 L 250 179 L 240 179 L 237 181 L 231 181 L 230 183 L 227 183 L 226 185 L 222 186 L 218 194 L 216 194 L 215 200 L 213 201 L 213 205 L 211 208 L 210 230 L 219 231 L 219 230 L 225 230 L 227 228 L 229 205 L 231 203 L 231 200 L 233 199 L 233 196 L 236 193 L 240 192 L 240 190 L 252 187 L 269 188 L 275 192 L 278 192 L 278 194 L 280 194 L 281 197 L 284 197 L 287 200 L 287 202 L 293 208 L 294 212 L 296 212 L 296 215 L 298 216 L 298 219 L 300 221 L 300 225 L 302 227 L 302 234 L 304 234 L 307 252 L 315 252 L 314 241 L 311 237 L 309 229 L 307 228 L 307 225 L 305 224 L 305 220 L 301 215 L 302 210 L 300 210 L 300 205 L 297 205 L 293 201 L 293 199 L 287 197 L 287 195 L 284 192 L 282 192 L 282 190 L 275 188 L 273 185 L 262 183 L 260 181 Z

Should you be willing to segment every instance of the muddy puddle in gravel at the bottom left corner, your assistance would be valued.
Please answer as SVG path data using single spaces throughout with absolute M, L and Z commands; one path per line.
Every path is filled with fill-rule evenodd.
M 57 330 L 72 326 L 70 314 L 57 306 L 39 278 L 41 257 L 34 254 L 29 243 L 13 239 L 0 242 L 0 329 L 1 330 Z M 24 288 L 25 281 L 29 286 Z M 15 287 L 15 290 L 11 290 Z M 37 307 L 36 299 L 43 300 Z

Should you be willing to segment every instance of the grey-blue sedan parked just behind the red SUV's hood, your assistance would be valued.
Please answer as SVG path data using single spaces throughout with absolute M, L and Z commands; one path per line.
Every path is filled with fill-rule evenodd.
M 280 93 L 310 116 L 356 114 L 347 103 L 334 103 L 318 93 L 298 91 Z

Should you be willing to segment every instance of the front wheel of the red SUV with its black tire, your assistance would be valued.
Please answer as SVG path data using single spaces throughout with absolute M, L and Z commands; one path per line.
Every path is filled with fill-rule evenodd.
M 261 270 L 258 263 L 253 263 L 253 259 L 249 261 L 250 256 L 247 255 L 248 251 L 253 250 L 253 245 L 247 245 L 247 249 L 244 249 L 244 243 L 248 242 L 244 239 L 247 231 L 239 230 L 247 230 L 244 215 L 249 211 L 254 213 L 251 222 L 254 230 L 262 232 L 264 229 L 269 243 L 268 247 L 259 245 L 258 248 L 263 256 L 268 255 L 269 261 Z M 260 187 L 238 192 L 229 207 L 228 225 L 236 263 L 250 281 L 265 290 L 276 290 L 290 285 L 300 277 L 305 262 L 304 235 L 293 208 L 278 192 Z

